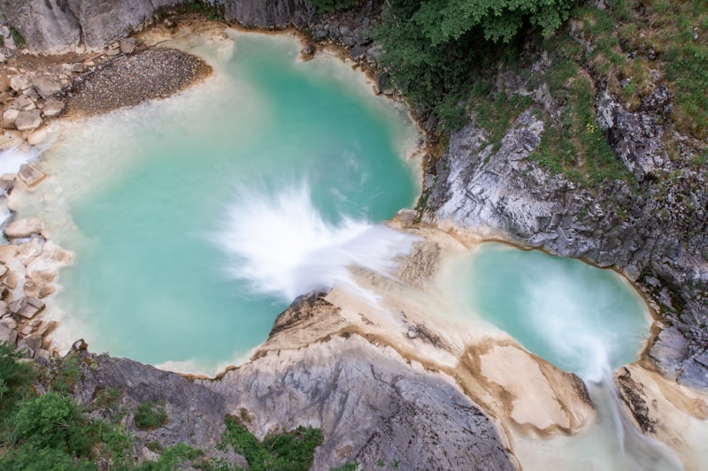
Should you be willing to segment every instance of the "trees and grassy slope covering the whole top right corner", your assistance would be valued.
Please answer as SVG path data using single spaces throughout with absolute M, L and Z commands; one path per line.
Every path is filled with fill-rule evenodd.
M 593 190 L 614 179 L 634 186 L 597 125 L 597 87 L 606 86 L 636 111 L 643 97 L 666 83 L 676 95 L 670 118 L 677 130 L 704 139 L 708 4 L 605 4 L 601 10 L 569 0 L 394 0 L 375 35 L 397 89 L 419 113 L 440 118 L 443 133 L 465 125 L 471 113 L 496 150 L 514 119 L 533 110 L 545 122 L 533 157 L 550 171 Z M 532 67 L 541 57 L 547 65 Z M 502 73 L 519 80 L 504 83 Z M 530 98 L 544 85 L 557 116 Z M 696 155 L 700 161 L 705 154 Z

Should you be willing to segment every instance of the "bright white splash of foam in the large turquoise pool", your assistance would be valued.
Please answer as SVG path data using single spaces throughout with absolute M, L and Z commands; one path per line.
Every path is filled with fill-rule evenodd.
M 358 289 L 350 266 L 378 273 L 394 268 L 414 238 L 382 225 L 342 217 L 327 221 L 310 187 L 242 187 L 213 239 L 229 257 L 228 273 L 254 292 L 284 300 L 334 285 Z

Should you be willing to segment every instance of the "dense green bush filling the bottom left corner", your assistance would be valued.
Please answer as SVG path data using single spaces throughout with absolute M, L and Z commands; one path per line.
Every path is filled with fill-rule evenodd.
M 12 346 L 0 344 L 0 468 L 95 469 L 90 461 L 99 459 L 125 467 L 128 437 L 114 423 L 90 420 L 68 395 L 76 359 L 69 357 L 53 371 L 18 359 Z M 40 380 L 50 391 L 37 395 Z

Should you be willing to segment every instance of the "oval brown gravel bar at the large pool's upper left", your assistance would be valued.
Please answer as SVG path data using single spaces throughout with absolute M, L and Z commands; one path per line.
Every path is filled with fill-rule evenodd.
M 166 98 L 212 73 L 202 59 L 178 49 L 147 49 L 117 57 L 85 76 L 67 102 L 67 114 L 91 116 Z

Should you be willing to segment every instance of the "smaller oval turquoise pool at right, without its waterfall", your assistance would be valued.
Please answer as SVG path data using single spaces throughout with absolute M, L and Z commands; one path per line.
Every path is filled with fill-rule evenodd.
M 498 243 L 482 244 L 458 270 L 467 311 L 587 381 L 635 361 L 649 335 L 646 303 L 612 270 Z

